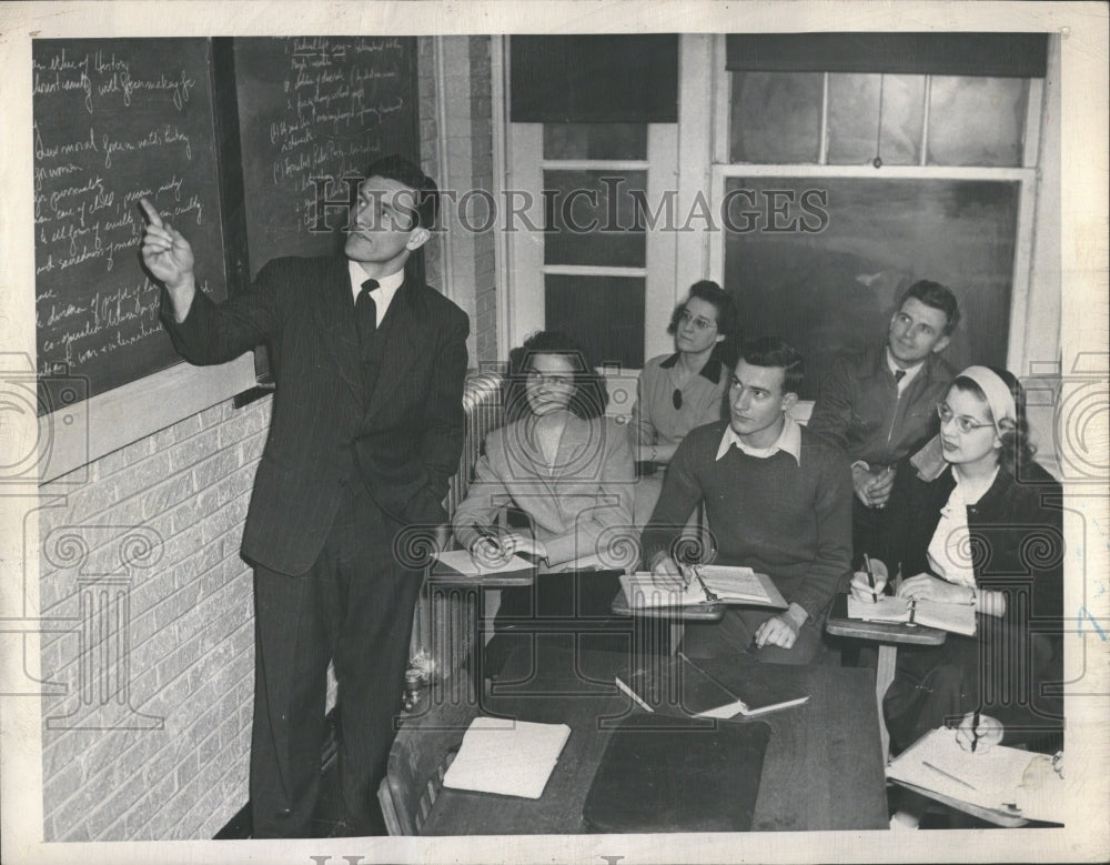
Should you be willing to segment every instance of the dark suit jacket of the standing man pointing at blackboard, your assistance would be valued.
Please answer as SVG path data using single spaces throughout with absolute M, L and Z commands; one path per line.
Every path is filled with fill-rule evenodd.
M 470 331 L 450 300 L 406 276 L 390 306 L 369 400 L 343 257 L 276 259 L 251 291 L 219 305 L 198 291 L 180 324 L 165 299 L 162 318 L 192 363 L 223 363 L 260 343 L 271 346 L 276 391 L 243 533 L 246 559 L 305 573 L 355 467 L 398 522 L 446 521 L 441 502 L 462 453 Z

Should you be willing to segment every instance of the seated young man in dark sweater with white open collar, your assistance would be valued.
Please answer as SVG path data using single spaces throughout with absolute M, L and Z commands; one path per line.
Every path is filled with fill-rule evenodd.
M 643 535 L 653 573 L 678 573 L 686 516 L 704 502 L 715 562 L 768 574 L 789 603 L 786 611 L 729 606 L 720 622 L 686 623 L 690 657 L 750 652 L 807 664 L 820 648 L 825 610 L 850 572 L 852 485 L 842 451 L 787 416 L 801 380 L 801 356 L 790 345 L 746 343 L 728 421 L 693 430 L 670 462 Z

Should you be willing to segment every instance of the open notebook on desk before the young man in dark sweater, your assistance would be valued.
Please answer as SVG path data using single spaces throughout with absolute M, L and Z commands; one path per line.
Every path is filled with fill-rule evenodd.
M 781 593 L 767 574 L 750 567 L 694 565 L 688 581 L 637 571 L 620 577 L 628 606 L 633 610 L 699 604 L 750 604 L 786 607 Z

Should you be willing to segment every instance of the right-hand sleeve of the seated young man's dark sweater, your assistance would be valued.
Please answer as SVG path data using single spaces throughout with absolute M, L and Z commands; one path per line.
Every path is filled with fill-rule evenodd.
M 786 600 L 798 604 L 817 622 L 837 584 L 851 571 L 852 487 L 851 472 L 842 454 L 830 449 L 815 451 L 813 457 L 821 460 L 814 499 L 817 552 L 801 585 Z

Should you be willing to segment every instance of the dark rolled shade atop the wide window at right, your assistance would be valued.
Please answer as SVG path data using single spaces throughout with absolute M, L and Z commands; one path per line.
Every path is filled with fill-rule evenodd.
M 731 33 L 733 72 L 1043 78 L 1048 33 Z

